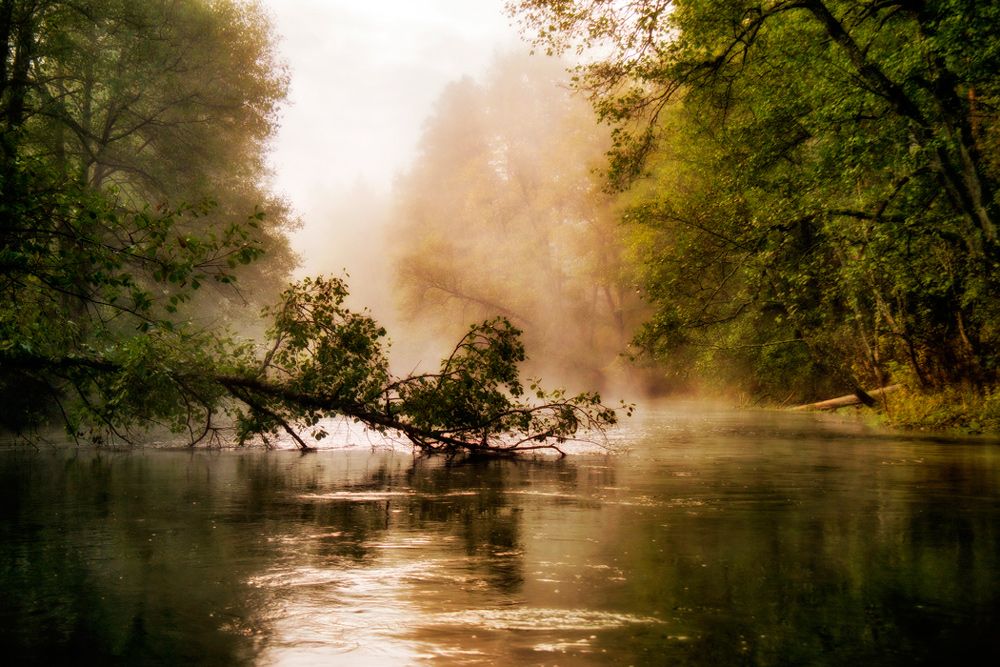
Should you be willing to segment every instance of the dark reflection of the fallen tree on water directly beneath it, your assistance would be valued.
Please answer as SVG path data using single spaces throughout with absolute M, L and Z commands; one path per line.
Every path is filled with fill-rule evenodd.
M 236 506 L 243 521 L 263 515 L 273 520 L 282 512 L 276 528 L 286 538 L 307 537 L 290 544 L 316 567 L 339 567 L 345 558 L 364 566 L 378 558 L 380 544 L 430 534 L 439 544 L 455 544 L 456 557 L 468 559 L 490 586 L 515 592 L 523 580 L 521 520 L 506 491 L 518 483 L 518 468 L 533 464 L 437 459 L 394 464 L 398 460 L 344 483 L 323 484 L 301 477 L 289 481 L 288 470 L 274 460 L 241 459 L 245 488 L 254 491 L 253 499 Z M 289 485 L 306 493 L 289 502 Z

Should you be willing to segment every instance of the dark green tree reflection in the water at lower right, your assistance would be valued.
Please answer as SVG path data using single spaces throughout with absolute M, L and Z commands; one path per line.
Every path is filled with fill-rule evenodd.
M 628 554 L 636 612 L 671 624 L 632 641 L 631 664 L 996 655 L 1000 530 L 971 499 L 997 497 L 997 480 L 980 461 L 889 462 L 845 483 L 849 456 L 723 461 L 661 482 L 657 506 L 607 542 Z

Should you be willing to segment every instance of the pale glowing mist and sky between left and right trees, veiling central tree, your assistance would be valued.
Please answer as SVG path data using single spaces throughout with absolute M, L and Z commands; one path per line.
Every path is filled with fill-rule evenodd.
M 346 274 L 396 372 L 502 315 L 529 375 L 620 385 L 641 308 L 596 175 L 607 131 L 503 4 L 271 0 L 291 74 L 274 185 L 303 222 L 297 273 Z

